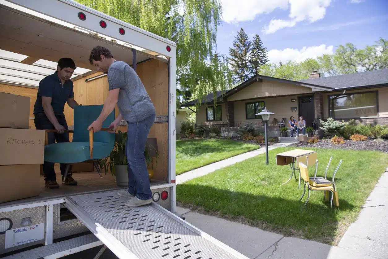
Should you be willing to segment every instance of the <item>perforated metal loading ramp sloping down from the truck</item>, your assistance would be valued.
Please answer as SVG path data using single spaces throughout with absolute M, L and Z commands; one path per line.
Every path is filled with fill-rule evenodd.
M 106 191 L 66 196 L 65 206 L 120 259 L 248 259 L 158 204 L 126 200 Z

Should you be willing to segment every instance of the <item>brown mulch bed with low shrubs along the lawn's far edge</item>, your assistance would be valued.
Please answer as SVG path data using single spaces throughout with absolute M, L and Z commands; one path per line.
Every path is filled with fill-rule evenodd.
M 333 144 L 330 139 L 321 139 L 318 143 L 299 142 L 290 146 L 307 148 L 337 148 L 353 150 L 372 150 L 388 153 L 388 141 L 383 139 L 370 139 L 368 141 L 352 141 L 345 139 L 344 144 Z

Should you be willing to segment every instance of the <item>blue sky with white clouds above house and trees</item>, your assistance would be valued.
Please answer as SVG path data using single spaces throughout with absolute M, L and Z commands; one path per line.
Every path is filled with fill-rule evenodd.
M 229 55 L 237 31 L 258 34 L 269 62 L 333 54 L 347 42 L 359 49 L 388 39 L 387 0 L 220 0 L 217 52 Z

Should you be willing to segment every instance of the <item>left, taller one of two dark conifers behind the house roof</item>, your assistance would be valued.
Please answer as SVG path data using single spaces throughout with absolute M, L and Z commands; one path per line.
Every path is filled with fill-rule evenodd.
M 241 83 L 249 79 L 249 52 L 251 41 L 243 28 L 234 37 L 233 48 L 229 48 L 229 64 L 232 69 L 234 83 Z

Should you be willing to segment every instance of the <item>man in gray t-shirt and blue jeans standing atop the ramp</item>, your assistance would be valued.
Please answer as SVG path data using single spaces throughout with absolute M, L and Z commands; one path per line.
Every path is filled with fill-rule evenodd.
M 105 100 L 100 116 L 88 129 L 97 132 L 102 122 L 118 106 L 120 114 L 109 128 L 115 133 L 121 120 L 128 122 L 128 139 L 125 146 L 128 160 L 128 189 L 117 195 L 128 198 L 128 207 L 138 207 L 152 202 L 147 164 L 144 157 L 145 144 L 156 111 L 139 76 L 127 63 L 116 61 L 105 47 L 94 47 L 90 52 L 90 64 L 98 71 L 108 74 L 109 96 Z

